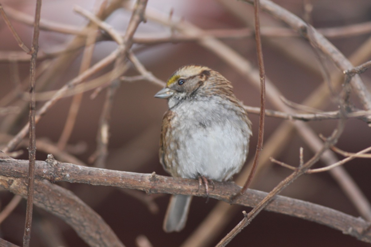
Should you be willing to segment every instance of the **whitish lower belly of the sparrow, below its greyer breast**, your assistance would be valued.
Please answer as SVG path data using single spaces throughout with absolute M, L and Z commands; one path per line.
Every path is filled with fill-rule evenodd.
M 227 122 L 196 128 L 180 136 L 180 148 L 176 154 L 178 175 L 228 180 L 239 172 L 246 160 L 249 134 Z

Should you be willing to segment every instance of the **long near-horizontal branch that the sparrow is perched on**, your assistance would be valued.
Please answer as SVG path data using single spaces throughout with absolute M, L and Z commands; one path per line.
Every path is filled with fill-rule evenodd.
M 2 176 L 9 177 L 0 177 L 0 186 L 9 189 L 9 184 L 12 184 L 8 183 L 9 180 L 14 180 L 16 179 L 15 177 L 27 176 L 27 161 L 0 160 L 0 174 Z M 35 176 L 36 178 L 46 179 L 52 182 L 67 181 L 70 183 L 115 186 L 120 188 L 142 190 L 148 194 L 170 193 L 206 196 L 202 190 L 198 190 L 198 181 L 195 179 L 159 176 L 154 173 L 142 174 L 94 167 L 82 167 L 70 163 L 60 163 L 56 161 L 52 155 L 49 155 L 46 161 L 36 161 Z M 37 181 L 37 183 L 42 183 L 41 186 L 45 186 L 44 184 L 46 184 L 44 183 L 45 181 L 35 181 Z M 18 183 L 13 184 L 15 185 Z M 50 191 L 49 188 L 38 186 L 36 187 L 37 193 L 43 193 L 47 197 L 49 197 L 51 193 L 54 194 L 54 189 Z M 50 184 L 50 186 L 53 186 L 53 188 L 56 187 L 58 190 L 62 189 L 56 185 Z M 210 190 L 209 196 L 211 198 L 216 198 L 217 200 L 229 202 L 229 198 L 240 191 L 240 189 L 241 187 L 231 182 L 215 182 L 214 189 Z M 35 194 L 35 196 L 37 197 L 37 194 Z M 253 207 L 266 196 L 267 193 L 265 192 L 248 189 L 247 193 L 237 198 L 235 203 L 247 207 Z M 64 197 L 58 196 L 58 198 Z M 45 198 L 43 200 L 48 203 L 53 203 L 53 200 L 48 200 Z M 55 200 L 55 202 L 57 201 L 58 200 Z M 45 205 L 42 205 L 42 201 L 40 204 L 37 205 L 45 208 Z M 60 206 L 58 201 L 59 210 L 56 211 L 59 212 L 60 208 L 64 207 L 70 208 L 70 204 L 68 205 L 69 206 Z M 328 207 L 319 206 L 317 204 L 289 197 L 275 196 L 265 209 L 303 218 L 309 221 L 314 221 L 319 224 L 324 224 L 342 231 L 345 234 L 350 234 L 361 241 L 371 243 L 371 233 L 365 231 L 369 225 L 367 221 L 359 217 L 349 216 Z M 76 215 L 79 216 L 80 213 L 76 213 Z M 85 214 L 82 214 L 82 217 L 84 217 L 84 215 Z M 83 222 L 84 226 L 91 225 L 86 224 L 85 220 Z M 76 227 L 78 226 L 76 225 Z

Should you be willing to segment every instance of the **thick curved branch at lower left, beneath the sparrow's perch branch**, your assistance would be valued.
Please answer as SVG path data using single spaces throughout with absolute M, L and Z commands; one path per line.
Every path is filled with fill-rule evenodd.
M 2 163 L 14 164 L 4 161 Z M 22 161 L 22 170 L 28 169 L 27 163 L 26 160 Z M 36 163 L 36 170 L 42 173 L 43 171 L 39 170 L 39 161 Z M 0 186 L 22 197 L 27 196 L 25 178 L 0 176 Z M 45 180 L 35 180 L 33 199 L 36 206 L 62 218 L 89 246 L 124 246 L 101 216 L 71 191 Z

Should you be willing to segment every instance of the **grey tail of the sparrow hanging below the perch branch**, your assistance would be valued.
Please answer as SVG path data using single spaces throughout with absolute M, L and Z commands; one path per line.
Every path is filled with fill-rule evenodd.
M 171 233 L 173 231 L 183 230 L 187 222 L 191 200 L 192 196 L 171 196 L 164 219 L 163 228 L 165 232 Z

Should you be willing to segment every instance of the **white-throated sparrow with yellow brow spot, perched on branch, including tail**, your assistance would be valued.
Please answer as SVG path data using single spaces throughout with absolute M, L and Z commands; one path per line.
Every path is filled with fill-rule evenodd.
M 227 79 L 208 67 L 187 65 L 175 71 L 155 97 L 168 99 L 159 153 L 171 176 L 226 181 L 240 171 L 251 122 Z M 191 198 L 171 197 L 166 232 L 184 228 Z

